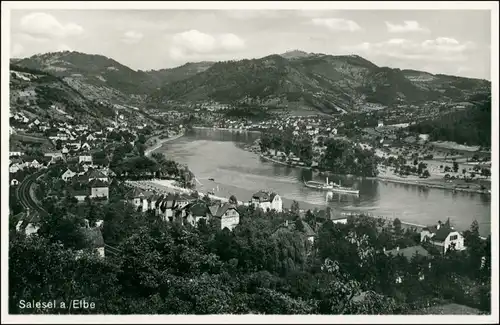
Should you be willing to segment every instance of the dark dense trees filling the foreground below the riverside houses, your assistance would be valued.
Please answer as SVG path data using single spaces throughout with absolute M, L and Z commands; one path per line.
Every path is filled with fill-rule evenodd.
M 21 299 L 85 299 L 96 308 L 71 312 L 106 314 L 407 314 L 448 302 L 490 312 L 491 241 L 479 239 L 477 222 L 466 251 L 425 246 L 429 256 L 407 259 L 384 254 L 419 244 L 399 220 L 361 215 L 335 224 L 324 211 L 299 216 L 295 203 L 283 213 L 240 206 L 233 232 L 211 221 L 194 228 L 138 212 L 118 199 L 120 188 L 110 189 L 108 204 L 45 202 L 50 217 L 35 236 L 11 224 L 11 313 L 33 313 L 19 308 Z M 83 218 L 104 220 L 104 241 L 120 253 L 76 258 L 86 247 Z

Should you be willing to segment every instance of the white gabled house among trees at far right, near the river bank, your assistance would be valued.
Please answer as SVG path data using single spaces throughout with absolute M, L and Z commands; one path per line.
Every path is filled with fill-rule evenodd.
M 420 242 L 429 242 L 438 247 L 441 252 L 446 253 L 450 247 L 461 251 L 465 249 L 463 235 L 456 231 L 449 223 L 441 221 L 435 226 L 425 227 L 420 232 Z

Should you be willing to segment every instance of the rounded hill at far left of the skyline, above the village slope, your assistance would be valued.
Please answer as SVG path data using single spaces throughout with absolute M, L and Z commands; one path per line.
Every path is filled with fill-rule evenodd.
M 45 53 L 17 60 L 15 64 L 60 77 L 88 99 L 134 103 L 156 88 L 147 73 L 102 55 L 69 51 Z

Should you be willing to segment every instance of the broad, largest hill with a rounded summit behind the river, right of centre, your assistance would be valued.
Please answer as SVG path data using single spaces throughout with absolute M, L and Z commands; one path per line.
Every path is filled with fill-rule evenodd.
M 332 56 L 292 51 L 260 59 L 217 62 L 154 92 L 149 101 L 293 107 L 336 113 L 428 101 L 463 101 L 489 91 L 484 80 L 378 67 L 357 55 Z

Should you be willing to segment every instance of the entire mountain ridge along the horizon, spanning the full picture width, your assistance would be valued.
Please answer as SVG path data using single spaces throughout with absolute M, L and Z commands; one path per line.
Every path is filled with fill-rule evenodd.
M 218 101 L 236 106 L 250 102 L 338 113 L 367 106 L 460 101 L 476 92 L 491 91 L 491 82 L 483 79 L 379 67 L 359 55 L 301 50 L 148 71 L 133 70 L 103 55 L 69 51 L 14 62 L 63 78 L 89 99 L 148 107 L 171 102 Z

